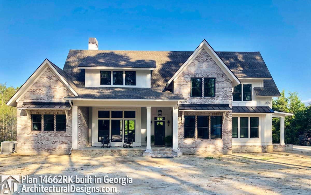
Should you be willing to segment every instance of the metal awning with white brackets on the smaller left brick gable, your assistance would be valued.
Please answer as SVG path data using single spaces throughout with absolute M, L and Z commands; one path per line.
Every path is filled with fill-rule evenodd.
M 68 122 L 68 110 L 71 109 L 69 102 L 23 102 L 17 109 L 26 110 L 27 117 L 30 116 L 29 110 L 64 110 Z

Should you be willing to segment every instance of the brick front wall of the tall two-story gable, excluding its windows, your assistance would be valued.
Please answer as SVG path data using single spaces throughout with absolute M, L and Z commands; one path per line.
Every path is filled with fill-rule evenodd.
M 202 97 L 190 97 L 190 78 L 202 78 Z M 213 98 L 204 97 L 205 77 L 216 78 L 216 93 Z M 180 93 L 185 98 L 184 102 L 189 104 L 229 104 L 232 106 L 232 82 L 220 69 L 211 56 L 203 49 L 189 66 L 174 81 L 174 93 Z M 219 116 L 222 112 L 185 112 L 184 115 Z M 210 117 L 209 117 L 210 120 Z M 209 121 L 209 139 L 197 138 L 197 125 L 195 138 L 183 138 L 182 112 L 178 113 L 178 146 L 184 154 L 207 155 L 210 153 L 231 154 L 232 153 L 232 112 L 225 115 L 222 124 L 222 139 L 211 139 L 211 129 Z

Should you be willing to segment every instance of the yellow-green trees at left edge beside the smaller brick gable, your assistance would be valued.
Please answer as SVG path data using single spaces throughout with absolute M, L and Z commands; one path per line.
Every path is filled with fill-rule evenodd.
M 0 84 L 0 141 L 16 140 L 16 107 L 7 106 L 7 101 L 18 88 Z

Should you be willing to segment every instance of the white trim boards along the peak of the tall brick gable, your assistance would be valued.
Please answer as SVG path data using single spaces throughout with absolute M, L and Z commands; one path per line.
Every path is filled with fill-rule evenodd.
M 197 57 L 197 55 L 205 49 L 205 51 L 212 57 L 212 59 L 216 62 L 216 64 L 220 67 L 220 69 L 228 76 L 228 78 L 232 81 L 232 85 L 239 85 L 241 82 L 239 79 L 233 74 L 233 72 L 225 65 L 225 63 L 220 59 L 220 57 L 216 54 L 214 49 L 207 43 L 204 39 L 202 43 L 194 50 L 191 56 L 183 63 L 183 65 L 177 70 L 177 72 L 169 79 L 165 88 L 169 86 L 172 81 L 175 81 L 178 76 L 187 68 L 187 66 Z

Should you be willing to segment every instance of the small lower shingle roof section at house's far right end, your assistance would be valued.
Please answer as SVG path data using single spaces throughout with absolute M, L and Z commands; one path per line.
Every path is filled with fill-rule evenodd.
M 263 87 L 254 87 L 254 91 L 257 96 L 281 96 L 278 88 L 273 79 L 263 80 Z

